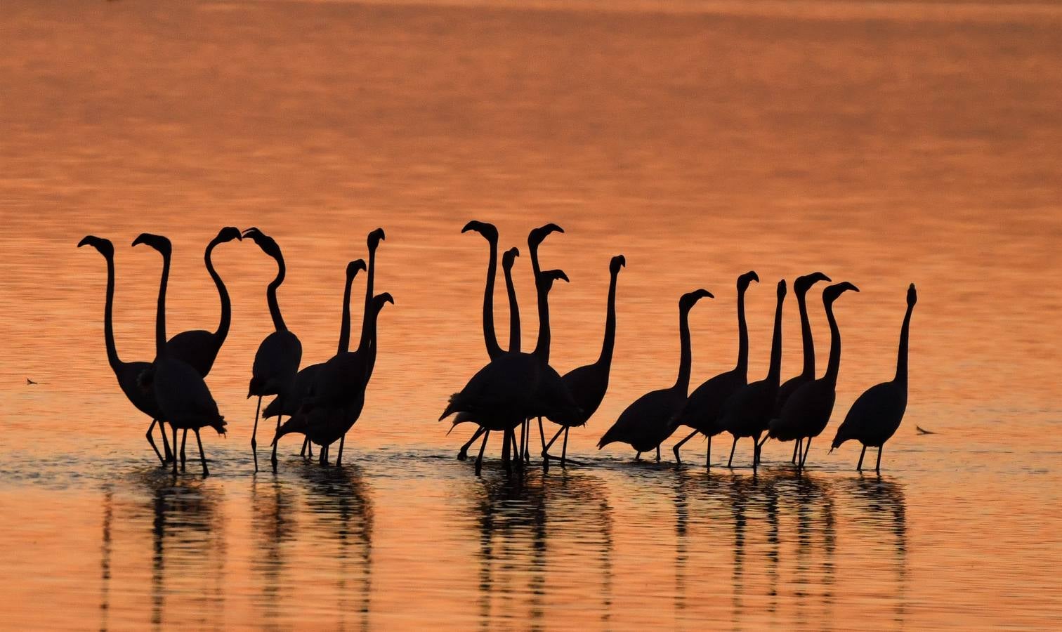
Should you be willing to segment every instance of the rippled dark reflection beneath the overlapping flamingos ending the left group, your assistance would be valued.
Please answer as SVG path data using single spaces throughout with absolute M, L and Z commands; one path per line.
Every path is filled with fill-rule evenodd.
M 369 485 L 361 467 L 349 463 L 342 467 L 320 467 L 304 463 L 295 472 L 306 484 L 306 508 L 318 524 L 313 532 L 324 534 L 336 544 L 336 588 L 339 601 L 336 612 L 337 628 L 347 626 L 346 614 L 359 614 L 362 630 L 370 628 L 370 610 L 373 584 L 373 503 Z M 357 603 L 347 600 L 347 582 L 352 576 L 357 583 Z

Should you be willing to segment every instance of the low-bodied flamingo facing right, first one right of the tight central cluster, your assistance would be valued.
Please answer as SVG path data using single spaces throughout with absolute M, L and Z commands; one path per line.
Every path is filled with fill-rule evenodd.
M 656 460 L 661 459 L 661 443 L 671 435 L 674 426 L 671 419 L 686 404 L 686 392 L 689 389 L 689 369 L 692 362 L 689 342 L 689 310 L 701 298 L 714 298 L 707 290 L 695 290 L 683 294 L 679 300 L 679 339 L 682 352 L 679 360 L 679 377 L 674 386 L 650 391 L 638 397 L 627 407 L 619 419 L 613 424 L 598 442 L 598 449 L 614 442 L 629 443 L 637 450 L 635 460 L 641 458 L 641 452 L 656 449 Z

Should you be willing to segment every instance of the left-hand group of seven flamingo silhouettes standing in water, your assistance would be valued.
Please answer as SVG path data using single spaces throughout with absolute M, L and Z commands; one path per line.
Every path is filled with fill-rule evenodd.
M 138 410 L 151 417 L 148 427 L 148 443 L 165 466 L 173 464 L 177 471 L 177 430 L 184 431 L 181 440 L 179 461 L 185 464 L 185 440 L 188 430 L 195 434 L 199 445 L 200 460 L 203 463 L 203 475 L 209 475 L 206 456 L 200 430 L 211 427 L 219 434 L 224 434 L 226 422 L 218 411 L 218 405 L 207 388 L 205 378 L 210 373 L 213 362 L 228 336 L 232 320 L 232 303 L 221 276 L 218 275 L 211 262 L 215 247 L 233 240 L 250 238 L 267 255 L 276 260 L 277 274 L 266 291 L 270 315 L 273 319 L 274 331 L 262 340 L 255 354 L 252 368 L 251 386 L 247 397 L 258 396 L 258 408 L 255 413 L 255 426 L 251 435 L 251 449 L 254 454 L 255 471 L 258 469 L 257 431 L 259 416 L 269 419 L 275 416 L 276 430 L 273 438 L 272 464 L 276 468 L 276 445 L 286 434 L 299 433 L 305 435 L 303 455 L 312 457 L 315 443 L 321 446 L 319 460 L 327 464 L 328 446 L 339 441 L 339 454 L 336 463 L 341 464 L 343 458 L 343 442 L 346 432 L 354 426 L 361 414 L 365 400 L 365 388 L 369 385 L 376 361 L 376 318 L 383 305 L 394 303 L 387 292 L 374 295 L 373 279 L 375 276 L 376 249 L 383 240 L 383 229 L 377 228 L 369 234 L 369 279 L 365 290 L 364 319 L 362 321 L 361 340 L 358 348 L 349 351 L 350 340 L 350 288 L 359 271 L 366 270 L 364 260 L 357 259 L 347 264 L 346 286 L 343 293 L 343 315 L 340 327 L 339 348 L 335 356 L 325 362 L 298 369 L 303 357 L 303 345 L 292 334 L 277 303 L 276 291 L 284 283 L 286 268 L 280 247 L 272 237 L 258 228 L 222 228 L 206 246 L 206 269 L 218 288 L 221 297 L 221 322 L 216 331 L 190 330 L 166 338 L 166 287 L 170 275 L 170 257 L 172 246 L 170 240 L 160 235 L 144 233 L 133 241 L 133 245 L 147 244 L 162 255 L 162 276 L 158 290 L 158 308 L 155 318 L 155 359 L 152 362 L 123 362 L 118 357 L 114 334 L 114 294 L 115 294 L 115 247 L 108 239 L 87 236 L 78 246 L 91 245 L 107 261 L 107 295 L 104 307 L 103 331 L 107 348 L 107 360 L 118 386 Z M 275 399 L 261 410 L 261 399 L 275 395 Z M 280 423 L 281 415 L 288 415 L 288 421 Z M 166 439 L 164 424 L 169 424 L 172 431 L 173 449 Z M 156 425 L 162 427 L 162 449 L 159 451 L 153 431 Z

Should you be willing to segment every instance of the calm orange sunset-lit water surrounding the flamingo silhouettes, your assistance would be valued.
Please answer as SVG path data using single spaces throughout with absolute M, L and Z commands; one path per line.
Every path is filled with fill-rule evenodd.
M 442 4 L 3 4 L 2 625 L 1062 627 L 1062 8 Z M 581 465 L 518 480 L 495 444 L 477 477 L 453 458 L 469 429 L 435 422 L 486 358 L 469 219 L 525 251 L 531 227 L 566 229 L 542 249 L 571 278 L 551 295 L 561 372 L 596 359 L 609 259 L 627 257 L 610 391 L 568 446 Z M 212 329 L 202 254 L 223 225 L 284 249 L 304 364 L 332 353 L 345 264 L 387 230 L 377 288 L 396 305 L 342 469 L 290 441 L 253 473 L 244 394 L 275 267 L 250 242 L 213 258 L 234 317 L 208 379 L 230 430 L 204 434 L 212 476 L 160 471 L 115 383 L 105 266 L 78 241 L 114 240 L 118 349 L 150 360 L 159 260 L 129 244 L 173 240 L 170 332 Z M 726 439 L 710 473 L 699 441 L 682 466 L 674 439 L 660 464 L 599 452 L 673 382 L 683 292 L 716 294 L 690 314 L 693 386 L 733 365 L 748 270 L 753 379 L 778 278 L 861 290 L 837 304 L 835 421 L 808 471 L 776 443 L 755 478 L 746 444 L 719 466 Z M 517 271 L 528 346 L 526 252 Z M 891 378 L 912 281 L 907 416 L 881 476 L 860 476 L 853 444 L 825 444 Z M 791 300 L 785 319 L 784 378 Z

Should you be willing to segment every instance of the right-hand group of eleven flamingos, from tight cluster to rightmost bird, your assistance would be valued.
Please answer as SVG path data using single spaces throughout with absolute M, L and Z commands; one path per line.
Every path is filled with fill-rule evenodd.
M 607 311 L 604 342 L 601 355 L 593 364 L 579 366 L 565 375 L 560 375 L 549 364 L 549 301 L 553 281 L 568 278 L 561 270 L 542 270 L 538 263 L 538 246 L 551 233 L 563 233 L 556 224 L 546 224 L 534 228 L 528 236 L 528 252 L 534 272 L 535 291 L 538 304 L 538 340 L 531 353 L 520 351 L 519 309 L 512 283 L 512 267 L 516 249 L 502 256 L 506 286 L 510 306 L 510 348 L 503 351 L 494 331 L 494 280 L 497 273 L 498 230 L 495 226 L 473 221 L 463 232 L 475 230 L 490 244 L 490 259 L 486 271 L 486 290 L 483 297 L 483 338 L 490 361 L 468 380 L 465 387 L 450 396 L 440 421 L 456 414 L 453 425 L 463 422 L 479 426 L 476 433 L 465 443 L 458 458 L 467 458 L 472 444 L 482 437 L 476 472 L 482 467 L 483 451 L 492 431 L 502 433 L 501 459 L 510 468 L 511 454 L 515 454 L 518 467 L 529 460 L 529 421 L 537 419 L 542 441 L 543 464 L 548 467 L 550 460 L 566 462 L 568 431 L 575 426 L 583 426 L 597 411 L 609 388 L 609 372 L 612 365 L 616 335 L 616 279 L 626 260 L 620 256 L 612 258 L 609 285 Z M 733 437 L 727 467 L 733 464 L 734 449 L 738 439 L 753 440 L 752 467 L 755 473 L 759 465 L 760 448 L 768 439 L 780 442 L 794 441 L 791 462 L 798 471 L 804 468 L 810 451 L 811 440 L 825 430 L 834 409 L 837 395 L 837 376 L 841 363 L 841 334 L 834 315 L 834 303 L 844 292 L 859 289 L 843 281 L 828 286 L 822 293 L 826 320 L 829 323 L 830 348 L 826 372 L 817 377 L 815 366 L 815 342 L 808 320 L 807 292 L 819 281 L 832 279 L 821 272 L 800 276 L 794 283 L 796 303 L 800 309 L 801 332 L 804 345 L 803 370 L 799 375 L 781 382 L 782 374 L 782 306 L 786 296 L 786 281 L 777 285 L 777 303 L 774 310 L 774 330 L 771 341 L 771 358 L 767 377 L 749 382 L 749 329 L 744 320 L 744 293 L 752 281 L 759 281 L 755 272 L 747 272 L 737 279 L 738 313 L 738 359 L 737 365 L 721 373 L 688 393 L 691 349 L 688 314 L 701 298 L 713 298 L 707 290 L 699 289 L 683 294 L 679 298 L 679 338 L 681 354 L 679 376 L 673 386 L 651 391 L 638 397 L 616 420 L 616 423 L 598 442 L 598 448 L 611 443 L 627 443 L 636 451 L 656 450 L 661 459 L 661 444 L 680 427 L 691 431 L 673 446 L 675 460 L 682 462 L 680 448 L 698 434 L 707 438 L 705 462 L 712 466 L 712 438 L 722 432 Z M 862 469 L 868 447 L 877 448 L 876 472 L 881 467 L 881 448 L 895 433 L 907 407 L 907 348 L 911 312 L 918 301 L 912 284 L 907 290 L 907 313 L 900 335 L 900 351 L 895 377 L 887 382 L 871 387 L 852 405 L 844 422 L 838 427 L 830 451 L 845 441 L 856 440 L 862 444 L 858 471 Z M 543 417 L 555 423 L 560 428 L 547 443 L 543 429 Z M 556 439 L 564 434 L 561 456 L 549 452 Z M 517 434 L 519 440 L 517 441 Z

